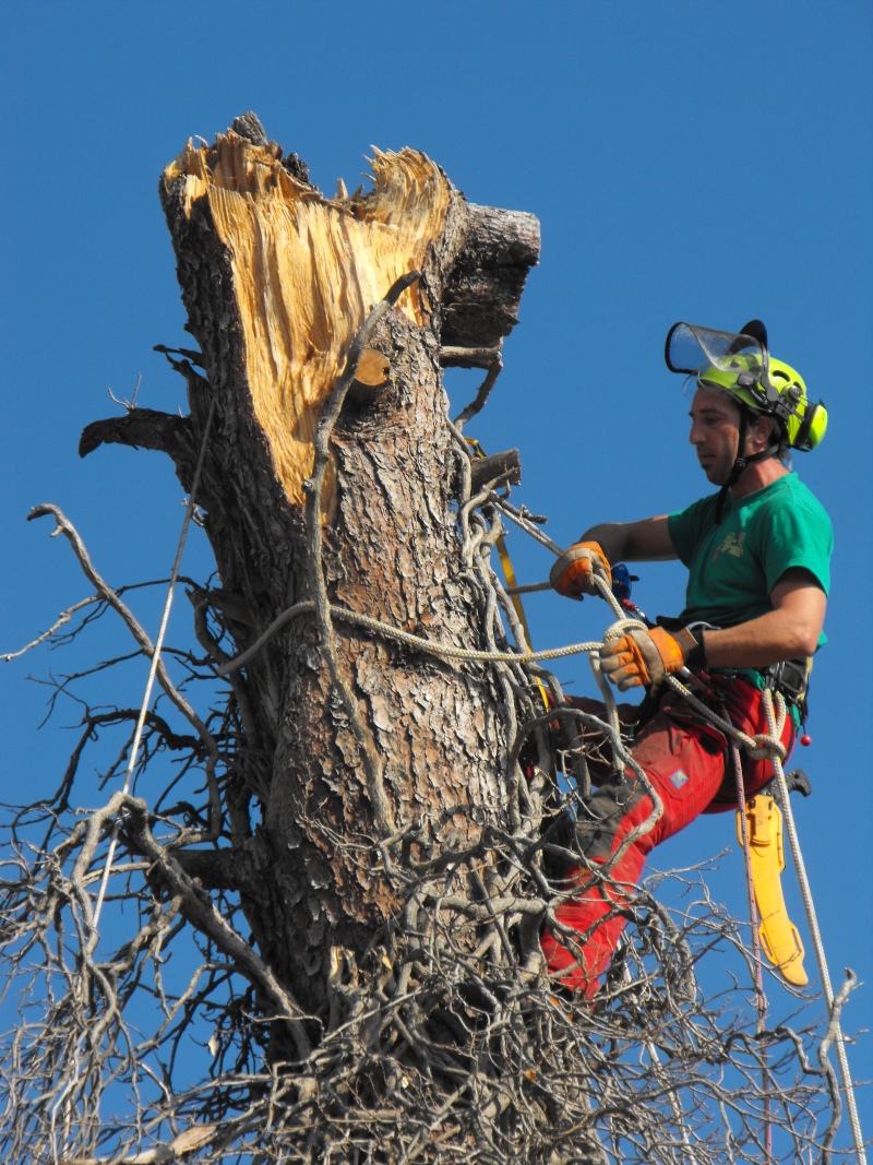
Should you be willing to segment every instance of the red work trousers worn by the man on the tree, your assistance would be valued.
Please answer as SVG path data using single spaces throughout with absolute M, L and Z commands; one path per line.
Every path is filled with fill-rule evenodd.
M 724 694 L 729 718 L 737 728 L 748 736 L 768 732 L 757 687 L 734 679 L 725 685 Z M 603 712 L 603 705 L 594 700 L 573 702 L 596 714 Z M 788 753 L 794 734 L 788 715 L 782 732 Z M 579 939 L 568 940 L 547 930 L 540 940 L 549 973 L 563 987 L 581 991 L 587 998 L 597 990 L 598 977 L 610 963 L 625 927 L 625 919 L 616 911 L 633 897 L 647 855 L 701 813 L 737 805 L 728 741 L 681 696 L 670 692 L 665 697 L 658 712 L 637 734 L 631 755 L 661 799 L 663 812 L 653 828 L 631 842 L 608 871 L 611 885 L 584 867 L 567 870 L 567 889 L 579 887 L 579 892 L 555 910 L 555 918 Z M 773 765 L 743 754 L 743 778 L 745 793 L 752 797 L 773 778 Z M 608 777 L 577 812 L 576 840 L 587 862 L 605 863 L 627 834 L 648 819 L 652 809 L 651 797 L 639 786 L 631 769 L 625 770 L 624 779 L 617 775 Z

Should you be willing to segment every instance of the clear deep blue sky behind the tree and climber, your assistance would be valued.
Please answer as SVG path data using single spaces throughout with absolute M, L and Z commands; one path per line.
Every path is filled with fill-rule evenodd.
M 190 135 L 211 140 L 248 108 L 328 192 L 339 176 L 357 184 L 370 143 L 423 149 L 471 200 L 532 211 L 542 224 L 541 264 L 505 372 L 470 432 L 491 451 L 520 446 L 517 497 L 551 516 L 555 541 L 705 492 L 680 377 L 661 356 L 674 320 L 730 330 L 759 316 L 773 353 L 825 400 L 826 440 L 796 459 L 832 516 L 836 557 L 814 744 L 796 758 L 815 792 L 795 812 L 831 973 L 840 981 L 851 966 L 865 981 L 846 1030 L 868 1023 L 873 8 L 7 0 L 0 19 L 0 651 L 87 593 L 48 520 L 24 522 L 37 502 L 66 510 L 111 581 L 169 573 L 182 521 L 170 463 L 116 449 L 79 461 L 76 452 L 81 428 L 115 411 L 107 387 L 129 396 L 142 374 L 141 404 L 184 404 L 180 380 L 151 352 L 186 339 L 156 193 L 162 167 Z M 453 400 L 474 386 L 474 374 L 455 376 Z M 520 536 L 512 550 L 525 580 L 546 577 L 545 552 Z M 203 544 L 192 543 L 185 569 L 207 573 Z M 682 606 L 679 566 L 640 573 L 646 610 Z M 186 606 L 175 613 L 179 636 Z M 155 603 L 140 609 L 156 628 Z M 606 624 L 596 602 L 534 595 L 527 610 L 537 647 L 598 637 Z M 69 666 L 43 651 L 0 669 L 5 800 L 59 778 L 71 734 L 35 734 L 45 690 L 24 677 Z M 572 691 L 590 689 L 583 665 L 561 677 L 575 678 Z M 143 682 L 132 676 L 132 693 Z M 74 719 L 68 708 L 58 723 Z M 728 817 L 705 819 L 658 863 L 711 856 L 733 846 L 732 829 Z M 736 846 L 712 878 L 741 911 Z M 872 1043 L 865 1035 L 850 1048 L 867 1079 Z M 870 1090 L 861 1110 L 870 1136 Z

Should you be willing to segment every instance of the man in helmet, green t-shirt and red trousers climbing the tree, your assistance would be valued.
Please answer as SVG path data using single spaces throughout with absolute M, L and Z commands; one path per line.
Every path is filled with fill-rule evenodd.
M 832 532 L 822 506 L 783 464 L 790 450 L 814 449 L 826 428 L 824 405 L 810 404 L 800 375 L 769 358 L 759 320 L 739 334 L 676 324 L 667 337 L 667 366 L 694 389 L 690 442 L 717 494 L 677 514 L 588 529 L 554 564 L 563 595 L 598 594 L 610 563 L 680 558 L 689 570 L 686 608 L 677 620 L 633 630 L 604 644 L 601 668 L 625 691 L 644 685 L 648 698 L 633 729 L 631 755 L 660 798 L 661 817 L 629 768 L 611 775 L 579 810 L 580 866 L 567 871 L 573 897 L 555 911 L 558 927 L 542 935 L 556 981 L 590 997 L 609 966 L 625 920 L 616 912 L 622 887 L 639 881 L 646 856 L 703 812 L 736 807 L 736 775 L 728 742 L 710 721 L 662 683 L 687 666 L 703 671 L 715 711 L 747 735 L 766 734 L 762 690 L 788 701 L 787 753 L 803 715 L 811 656 L 824 635 Z M 588 711 L 595 701 L 574 700 Z M 623 708 L 623 719 L 638 709 Z M 594 770 L 592 770 L 594 771 Z M 745 792 L 773 777 L 766 760 L 744 757 Z M 596 779 L 596 777 L 595 777 Z M 618 857 L 613 857 L 618 853 Z M 597 868 L 611 860 L 609 878 Z

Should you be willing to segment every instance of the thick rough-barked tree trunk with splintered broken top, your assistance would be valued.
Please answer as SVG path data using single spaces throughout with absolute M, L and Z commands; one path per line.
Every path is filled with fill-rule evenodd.
M 161 179 L 199 345 L 187 355 L 205 369 L 176 362 L 186 431 L 136 410 L 127 431 L 90 426 L 83 447 L 163 447 L 190 486 L 214 408 L 198 501 L 221 586 L 197 599 L 249 647 L 314 596 L 305 503 L 319 418 L 370 309 L 417 269 L 331 432 L 320 570 L 341 608 L 426 640 L 494 645 L 481 567 L 457 532 L 469 458 L 447 422 L 441 353 L 495 361 L 537 262 L 538 223 L 468 204 L 410 149 L 375 151 L 372 192 L 328 199 L 293 155 L 283 163 L 250 121 L 235 126 L 212 147 L 189 143 Z M 198 866 L 207 884 L 241 891 L 265 961 L 308 1011 L 325 1001 L 338 951 L 360 958 L 404 905 L 379 842 L 405 833 L 433 862 L 517 816 L 513 713 L 494 668 L 334 623 L 327 650 L 350 707 L 308 610 L 232 672 L 244 725 L 226 793 L 239 860 L 222 855 L 220 873 L 205 855 Z

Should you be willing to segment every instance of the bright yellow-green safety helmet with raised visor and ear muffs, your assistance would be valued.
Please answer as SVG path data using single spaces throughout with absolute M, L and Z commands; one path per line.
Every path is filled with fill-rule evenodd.
M 810 404 L 799 372 L 771 356 L 767 330 L 758 319 L 741 332 L 674 324 L 667 333 L 665 359 L 670 372 L 693 376 L 695 387 L 773 417 L 792 449 L 807 452 L 824 437 L 828 410 L 821 401 Z

